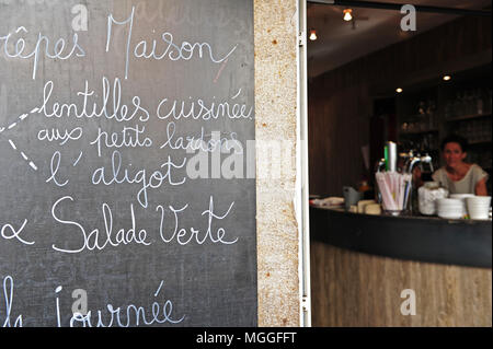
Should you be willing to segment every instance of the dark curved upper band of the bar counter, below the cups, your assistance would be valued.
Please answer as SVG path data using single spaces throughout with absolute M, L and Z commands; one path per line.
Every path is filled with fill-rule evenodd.
M 372 255 L 491 268 L 492 221 L 371 216 L 310 207 L 310 239 Z

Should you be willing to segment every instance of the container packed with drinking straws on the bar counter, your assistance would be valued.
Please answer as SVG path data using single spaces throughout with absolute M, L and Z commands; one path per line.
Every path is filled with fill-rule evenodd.
M 383 211 L 399 216 L 406 210 L 412 190 L 412 175 L 398 172 L 375 174 Z

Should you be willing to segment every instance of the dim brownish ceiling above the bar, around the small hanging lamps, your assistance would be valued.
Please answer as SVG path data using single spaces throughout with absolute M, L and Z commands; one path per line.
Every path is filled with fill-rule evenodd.
M 381 0 L 380 2 L 404 3 Z M 415 5 L 447 7 L 458 9 L 491 9 L 491 0 L 413 0 Z M 308 75 L 317 77 L 386 46 L 422 34 L 435 26 L 455 20 L 450 14 L 417 12 L 416 32 L 403 32 L 399 11 L 353 8 L 355 27 L 343 21 L 344 7 L 309 3 L 308 28 L 317 30 L 318 39 L 308 40 Z

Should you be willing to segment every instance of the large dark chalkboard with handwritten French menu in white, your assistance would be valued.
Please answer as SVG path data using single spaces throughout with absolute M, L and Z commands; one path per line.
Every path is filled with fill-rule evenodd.
M 256 325 L 252 3 L 0 0 L 0 325 Z

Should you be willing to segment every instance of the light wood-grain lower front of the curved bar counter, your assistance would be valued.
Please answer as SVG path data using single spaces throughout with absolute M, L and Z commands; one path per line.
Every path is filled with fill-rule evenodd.
M 316 327 L 492 326 L 491 267 L 386 257 L 313 237 L 310 248 Z M 406 289 L 416 315 L 401 313 Z

